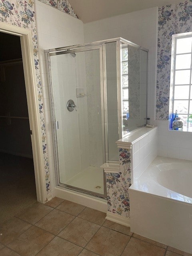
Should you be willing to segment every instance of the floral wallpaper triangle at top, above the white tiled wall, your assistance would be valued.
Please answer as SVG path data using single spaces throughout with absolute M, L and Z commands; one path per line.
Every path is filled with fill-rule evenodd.
M 65 12 L 75 18 L 78 18 L 77 14 L 73 10 L 68 0 L 39 0 L 39 1 L 43 2 L 44 4 L 48 4 L 62 12 Z

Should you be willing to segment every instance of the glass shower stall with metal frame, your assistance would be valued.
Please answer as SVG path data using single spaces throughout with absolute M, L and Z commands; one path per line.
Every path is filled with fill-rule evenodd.
M 106 198 L 104 163 L 146 124 L 148 50 L 123 38 L 45 50 L 56 186 Z

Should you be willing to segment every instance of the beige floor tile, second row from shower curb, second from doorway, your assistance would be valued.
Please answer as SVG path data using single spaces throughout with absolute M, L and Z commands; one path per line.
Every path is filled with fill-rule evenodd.
M 52 212 L 47 214 L 44 218 L 39 220 L 35 226 L 47 230 L 55 235 L 59 234 L 63 228 L 68 225 L 75 216 L 54 209 Z

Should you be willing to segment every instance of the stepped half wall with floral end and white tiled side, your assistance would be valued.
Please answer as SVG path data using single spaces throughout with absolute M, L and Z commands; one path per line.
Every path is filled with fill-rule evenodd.
M 114 167 L 114 171 L 106 173 L 106 218 L 129 226 L 129 187 L 157 156 L 157 127 L 139 128 L 116 143 L 119 148 L 119 170 Z

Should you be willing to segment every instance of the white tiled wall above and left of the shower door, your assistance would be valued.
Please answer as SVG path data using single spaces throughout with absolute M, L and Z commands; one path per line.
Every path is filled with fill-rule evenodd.
M 47 138 L 48 162 L 50 168 L 50 188 L 54 196 L 55 171 L 50 120 L 50 105 L 44 49 L 80 44 L 84 42 L 83 23 L 64 12 L 35 0 L 38 51 L 40 58 L 40 74 L 44 102 L 45 128 Z M 72 92 L 73 93 L 73 92 Z

